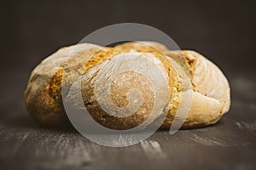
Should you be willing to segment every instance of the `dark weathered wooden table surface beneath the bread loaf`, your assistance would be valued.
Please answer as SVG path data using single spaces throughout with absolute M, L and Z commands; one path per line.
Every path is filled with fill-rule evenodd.
M 74 130 L 38 127 L 27 115 L 29 74 L 2 73 L 0 169 L 256 169 L 256 83 L 230 77 L 231 110 L 218 124 L 174 135 L 154 133 L 141 144 L 110 148 Z

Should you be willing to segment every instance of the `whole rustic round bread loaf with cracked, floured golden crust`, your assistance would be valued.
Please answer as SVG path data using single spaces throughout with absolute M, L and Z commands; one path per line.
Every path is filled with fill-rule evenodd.
M 157 65 L 166 77 L 168 88 L 162 88 L 162 82 L 157 82 L 156 86 L 145 75 L 132 70 L 113 77 L 113 69 L 119 68 L 121 64 L 114 64 L 112 61 L 117 58 L 130 59 L 130 56 L 137 61 L 135 64 L 138 67 L 142 58 Z M 106 67 L 111 64 L 111 67 Z M 99 72 L 102 72 L 102 77 L 98 75 Z M 81 84 L 76 83 L 79 77 L 82 77 Z M 131 89 L 137 89 L 141 93 L 139 96 L 135 93 L 134 96 L 142 98 L 143 102 L 134 114 L 118 116 L 118 112 L 110 114 L 102 109 L 96 91 L 101 93 L 101 89 L 105 89 L 111 78 L 110 96 L 109 100 L 103 100 L 104 107 L 110 107 L 111 110 L 113 104 L 117 108 L 131 105 L 127 108 L 133 110 L 133 104 L 129 103 L 128 98 L 129 93 L 132 93 Z M 96 88 L 96 84 L 99 88 Z M 90 116 L 102 126 L 112 129 L 130 129 L 143 122 L 154 122 L 161 116 L 152 111 L 154 105 L 167 111 L 166 119 L 161 125 L 163 129 L 170 128 L 177 112 L 184 109 L 188 109 L 189 115 L 183 122 L 183 128 L 211 125 L 218 122 L 230 109 L 229 82 L 216 65 L 195 51 L 170 51 L 158 42 L 126 42 L 113 48 L 82 43 L 59 49 L 32 71 L 25 92 L 26 109 L 42 126 L 66 127 L 70 122 L 62 99 L 75 104 L 75 91 L 79 85 Z M 65 96 L 61 96 L 63 87 L 68 89 Z M 155 89 L 162 96 L 168 94 L 169 97 L 154 98 Z M 191 105 L 185 102 L 189 89 L 193 91 Z M 153 116 L 149 118 L 152 113 Z

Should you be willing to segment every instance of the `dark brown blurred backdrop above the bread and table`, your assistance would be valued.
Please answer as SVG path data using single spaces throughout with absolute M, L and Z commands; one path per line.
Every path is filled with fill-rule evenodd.
M 62 46 L 122 22 L 154 26 L 231 76 L 254 71 L 253 1 L 7 1 L 1 4 L 1 69 L 31 71 Z

